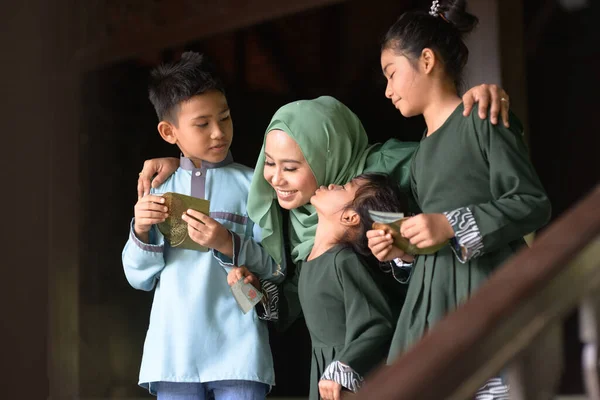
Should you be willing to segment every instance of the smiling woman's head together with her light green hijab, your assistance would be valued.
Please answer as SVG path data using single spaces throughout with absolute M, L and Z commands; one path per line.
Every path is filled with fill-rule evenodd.
M 285 137 L 271 139 L 275 132 L 284 132 L 287 143 Z M 294 145 L 301 151 L 296 157 L 286 154 Z M 333 97 L 281 107 L 267 128 L 248 198 L 248 216 L 262 229 L 262 246 L 277 263 L 284 261 L 283 208 L 289 210 L 291 261 L 305 259 L 317 225 L 317 214 L 308 202 L 316 189 L 343 185 L 363 172 L 390 174 L 406 188 L 416 145 L 396 139 L 369 145 L 358 117 Z M 298 179 L 301 174 L 307 176 Z

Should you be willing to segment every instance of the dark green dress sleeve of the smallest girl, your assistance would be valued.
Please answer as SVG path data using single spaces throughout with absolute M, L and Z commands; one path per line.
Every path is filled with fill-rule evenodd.
M 335 266 L 346 311 L 345 343 L 336 361 L 365 376 L 387 354 L 393 335 L 392 312 L 369 267 L 356 254 L 339 253 Z

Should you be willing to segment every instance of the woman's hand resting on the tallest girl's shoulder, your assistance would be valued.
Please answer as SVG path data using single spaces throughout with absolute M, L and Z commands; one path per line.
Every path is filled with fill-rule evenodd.
M 463 115 L 466 117 L 471 113 L 475 103 L 479 103 L 479 118 L 485 119 L 488 108 L 490 109 L 490 121 L 496 125 L 498 123 L 498 114 L 502 114 L 502 121 L 505 127 L 509 127 L 508 110 L 509 98 L 508 93 L 498 85 L 479 85 L 469 89 L 463 96 L 465 111 Z

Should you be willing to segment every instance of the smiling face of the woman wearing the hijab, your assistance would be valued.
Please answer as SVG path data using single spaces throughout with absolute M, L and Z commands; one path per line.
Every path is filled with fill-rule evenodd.
M 300 146 L 281 130 L 267 134 L 263 176 L 275 189 L 279 205 L 286 210 L 309 203 L 317 190 L 317 180 Z

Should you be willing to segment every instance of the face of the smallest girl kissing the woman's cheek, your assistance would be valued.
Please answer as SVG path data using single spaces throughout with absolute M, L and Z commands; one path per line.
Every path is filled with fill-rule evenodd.
M 319 214 L 319 221 L 325 218 L 340 221 L 344 209 L 356 197 L 360 183 L 359 179 L 353 179 L 342 186 L 321 186 L 310 199 Z

